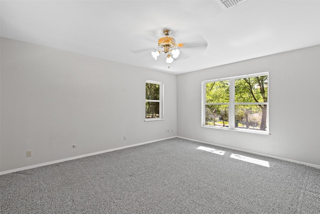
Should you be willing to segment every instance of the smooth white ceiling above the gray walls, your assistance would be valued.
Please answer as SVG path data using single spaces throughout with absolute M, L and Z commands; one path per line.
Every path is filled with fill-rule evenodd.
M 219 0 L 217 0 L 219 1 Z M 320 44 L 320 1 L 0 1 L 1 37 L 181 74 Z M 170 68 L 150 53 L 172 30 Z M 135 52 L 132 50 L 138 50 Z

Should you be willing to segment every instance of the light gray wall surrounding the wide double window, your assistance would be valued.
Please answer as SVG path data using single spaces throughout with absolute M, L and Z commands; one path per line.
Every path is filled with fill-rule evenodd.
M 178 75 L 178 136 L 320 166 L 319 56 L 314 46 Z M 270 135 L 200 127 L 201 81 L 259 72 L 269 72 Z

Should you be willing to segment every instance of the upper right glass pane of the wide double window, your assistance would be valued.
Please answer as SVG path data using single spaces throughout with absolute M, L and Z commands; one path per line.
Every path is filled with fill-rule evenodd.
M 236 103 L 267 102 L 267 76 L 234 80 Z

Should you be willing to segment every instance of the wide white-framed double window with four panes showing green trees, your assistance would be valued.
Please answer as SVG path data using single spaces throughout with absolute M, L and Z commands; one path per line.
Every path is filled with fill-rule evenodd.
M 202 82 L 202 126 L 268 133 L 268 74 Z

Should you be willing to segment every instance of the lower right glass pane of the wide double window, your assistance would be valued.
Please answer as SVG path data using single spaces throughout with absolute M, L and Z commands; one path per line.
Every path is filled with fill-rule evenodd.
M 266 105 L 235 105 L 235 128 L 266 130 Z

